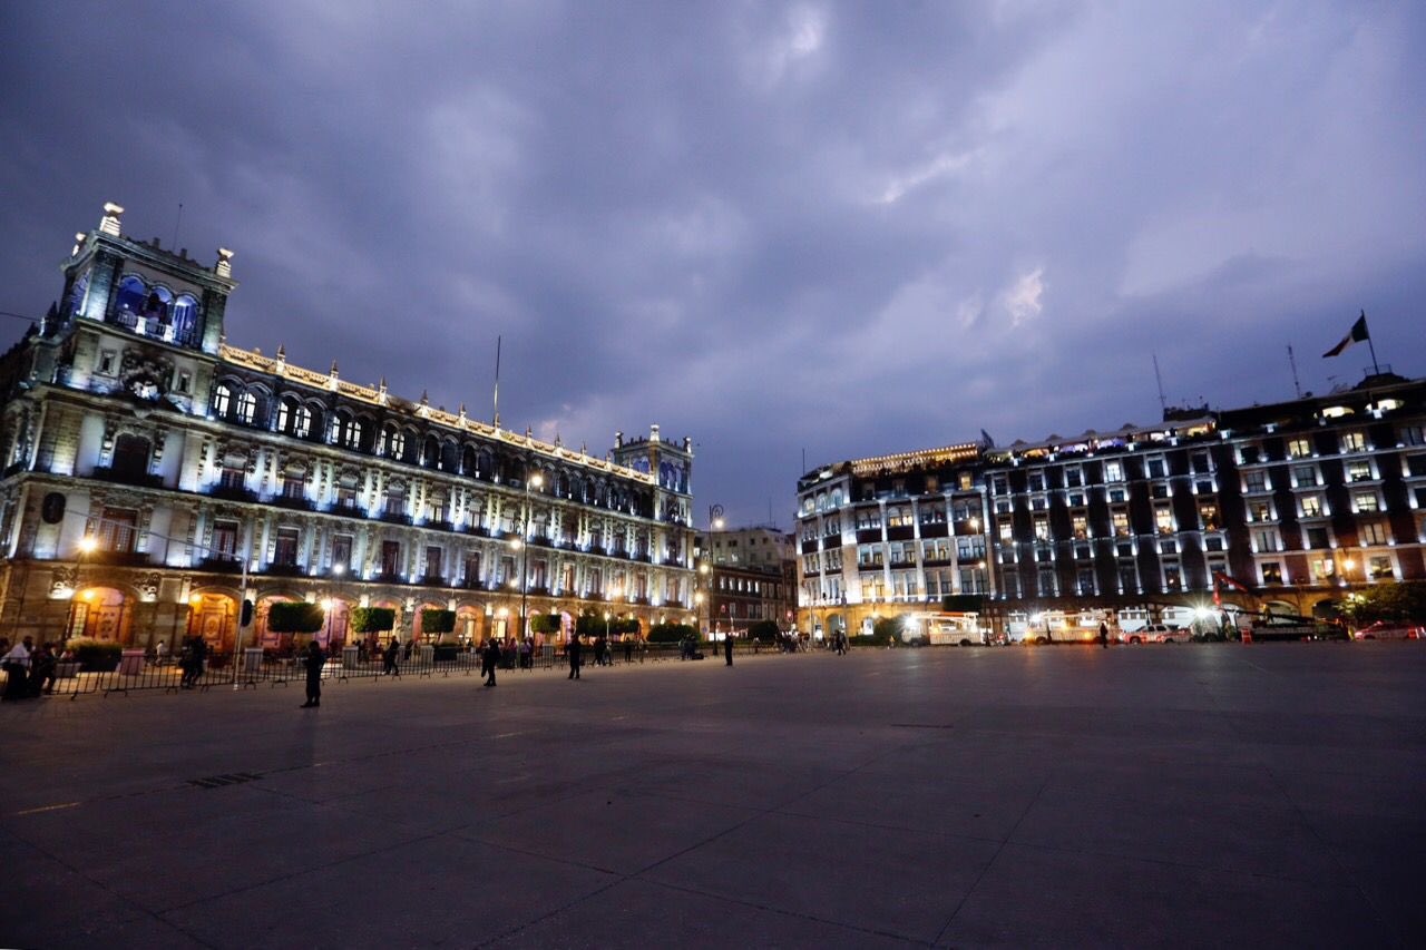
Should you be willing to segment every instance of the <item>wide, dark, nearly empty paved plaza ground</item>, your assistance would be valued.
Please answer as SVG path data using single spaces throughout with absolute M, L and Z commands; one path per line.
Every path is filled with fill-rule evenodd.
M 301 700 L 0 708 L 0 944 L 1426 940 L 1422 643 L 861 649 Z M 224 775 L 254 777 L 190 783 Z

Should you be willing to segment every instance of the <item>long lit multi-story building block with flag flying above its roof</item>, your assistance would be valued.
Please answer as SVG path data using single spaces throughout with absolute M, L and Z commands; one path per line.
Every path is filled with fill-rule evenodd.
M 1306 613 L 1422 579 L 1423 425 L 1426 379 L 1375 374 L 1152 427 L 827 465 L 797 485 L 800 628 L 866 629 L 960 593 L 1021 623 L 1158 615 L 1204 608 L 1224 578 L 1242 606 Z

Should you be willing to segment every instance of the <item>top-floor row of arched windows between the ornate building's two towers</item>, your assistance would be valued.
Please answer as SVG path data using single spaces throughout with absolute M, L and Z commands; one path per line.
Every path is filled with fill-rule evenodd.
M 271 394 L 260 385 L 244 385 L 237 379 L 224 379 L 212 391 L 212 417 L 242 425 L 274 425 L 275 431 L 298 439 L 325 439 L 328 444 L 361 452 L 372 452 L 381 458 L 422 465 L 453 475 L 496 479 L 523 485 L 523 474 L 540 474 L 540 494 L 569 498 L 588 505 L 597 505 L 646 518 L 653 516 L 653 498 L 649 492 L 629 489 L 617 481 L 582 478 L 576 472 L 553 469 L 543 465 L 526 468 L 525 464 L 503 454 L 493 452 L 486 445 L 461 445 L 453 438 L 438 438 L 421 434 L 415 427 L 386 422 L 379 432 L 368 417 L 358 417 L 349 409 L 337 409 L 324 422 L 324 407 L 317 401 L 302 401 L 294 395 L 277 399 L 277 414 L 268 422 Z

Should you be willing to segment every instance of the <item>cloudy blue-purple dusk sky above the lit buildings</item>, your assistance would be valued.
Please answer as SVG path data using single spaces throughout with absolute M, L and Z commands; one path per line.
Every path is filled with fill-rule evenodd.
M 228 339 L 809 466 L 1426 375 L 1419 3 L 6 3 L 0 310 L 106 200 Z M 9 321 L 7 338 L 23 330 Z M 1333 379 L 1335 377 L 1335 379 Z M 702 519 L 702 515 L 700 515 Z

